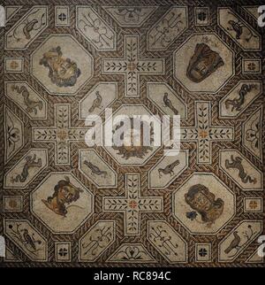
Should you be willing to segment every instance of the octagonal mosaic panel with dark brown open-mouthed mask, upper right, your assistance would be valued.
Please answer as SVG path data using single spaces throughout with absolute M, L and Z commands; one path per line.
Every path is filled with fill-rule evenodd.
M 174 77 L 188 91 L 216 93 L 234 74 L 233 59 L 217 35 L 192 35 L 174 52 Z

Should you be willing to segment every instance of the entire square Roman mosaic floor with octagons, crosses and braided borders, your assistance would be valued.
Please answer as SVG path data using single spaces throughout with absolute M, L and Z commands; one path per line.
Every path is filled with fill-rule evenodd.
M 264 266 L 261 2 L 4 1 L 1 266 Z M 179 155 L 88 147 L 106 108 Z

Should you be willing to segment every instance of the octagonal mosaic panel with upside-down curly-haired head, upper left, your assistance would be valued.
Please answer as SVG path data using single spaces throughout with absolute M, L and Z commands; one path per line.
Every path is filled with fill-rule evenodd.
M 32 74 L 52 95 L 74 95 L 93 67 L 92 56 L 72 35 L 50 35 L 31 57 Z

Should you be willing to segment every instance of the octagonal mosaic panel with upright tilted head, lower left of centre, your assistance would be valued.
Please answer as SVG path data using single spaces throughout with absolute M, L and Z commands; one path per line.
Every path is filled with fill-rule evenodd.
M 72 173 L 49 173 L 31 194 L 32 211 L 54 233 L 72 233 L 94 212 L 93 194 Z

